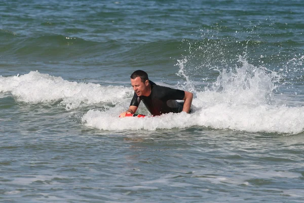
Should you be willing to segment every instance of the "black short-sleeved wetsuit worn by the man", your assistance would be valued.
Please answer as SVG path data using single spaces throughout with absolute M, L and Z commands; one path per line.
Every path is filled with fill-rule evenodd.
M 138 107 L 142 100 L 148 111 L 154 116 L 170 112 L 180 113 L 182 111 L 183 103 L 179 103 L 176 100 L 184 98 L 184 91 L 160 86 L 150 80 L 149 83 L 151 85 L 151 94 L 149 96 L 137 96 L 136 92 L 134 92 L 130 106 Z

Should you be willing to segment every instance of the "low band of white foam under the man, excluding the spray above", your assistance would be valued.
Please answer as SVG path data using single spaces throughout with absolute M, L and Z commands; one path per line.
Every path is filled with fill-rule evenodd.
M 166 114 L 149 118 L 118 118 L 117 114 L 90 110 L 82 120 L 87 126 L 104 130 L 156 130 L 209 126 L 244 131 L 299 133 L 304 128 L 304 107 L 269 105 L 209 105 L 193 114 Z

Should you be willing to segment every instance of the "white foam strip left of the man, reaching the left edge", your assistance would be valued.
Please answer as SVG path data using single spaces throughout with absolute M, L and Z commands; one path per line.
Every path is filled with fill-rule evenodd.
M 66 109 L 78 108 L 81 104 L 117 104 L 133 93 L 131 88 L 69 82 L 37 71 L 22 76 L 0 77 L 0 92 L 10 92 L 17 101 L 32 104 L 60 101 Z

